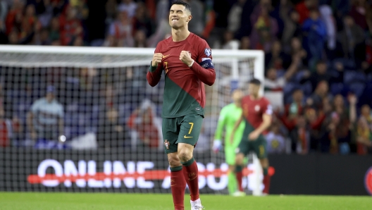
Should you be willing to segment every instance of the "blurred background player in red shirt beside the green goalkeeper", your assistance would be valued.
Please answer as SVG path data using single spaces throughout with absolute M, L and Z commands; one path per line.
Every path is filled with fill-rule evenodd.
M 249 95 L 242 99 L 242 115 L 237 123 L 235 123 L 233 132 L 230 136 L 230 142 L 233 142 L 235 131 L 244 118 L 245 128 L 242 141 L 237 149 L 235 160 L 237 166 L 235 169 L 237 182 L 240 186 L 242 185 L 242 165 L 244 156 L 247 156 L 250 151 L 254 151 L 258 156 L 263 169 L 263 194 L 268 194 L 270 176 L 268 175 L 268 158 L 266 152 L 267 143 L 262 133 L 271 125 L 273 109 L 268 99 L 259 95 L 260 86 L 261 82 L 257 79 L 253 79 L 249 82 Z M 240 194 L 244 195 L 242 187 L 240 187 Z

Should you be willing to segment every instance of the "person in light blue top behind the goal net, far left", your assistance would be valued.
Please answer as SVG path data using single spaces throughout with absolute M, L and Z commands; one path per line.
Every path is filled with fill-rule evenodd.
M 46 96 L 32 104 L 27 115 L 27 127 L 30 130 L 35 148 L 58 148 L 58 138 L 63 135 L 63 106 L 55 99 L 54 86 L 48 86 Z

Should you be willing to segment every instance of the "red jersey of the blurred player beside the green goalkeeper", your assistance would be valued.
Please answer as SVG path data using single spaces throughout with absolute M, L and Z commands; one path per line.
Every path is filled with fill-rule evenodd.
M 263 113 L 273 114 L 270 102 L 265 97 L 256 100 L 252 100 L 250 96 L 242 98 L 242 109 L 245 120 L 255 129 L 263 122 Z

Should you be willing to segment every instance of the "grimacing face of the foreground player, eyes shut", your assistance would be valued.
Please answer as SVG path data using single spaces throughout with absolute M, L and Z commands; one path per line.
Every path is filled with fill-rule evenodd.
M 169 11 L 169 25 L 174 29 L 185 27 L 191 20 L 190 11 L 185 9 L 185 6 L 173 4 Z

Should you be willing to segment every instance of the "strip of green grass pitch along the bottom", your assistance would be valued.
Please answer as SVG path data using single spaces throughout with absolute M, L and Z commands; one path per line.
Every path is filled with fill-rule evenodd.
M 190 197 L 185 197 L 185 209 L 190 209 Z M 336 196 L 278 196 L 230 197 L 225 195 L 201 196 L 206 210 L 275 209 L 372 209 L 371 197 Z M 124 193 L 34 193 L 0 192 L 0 209 L 52 210 L 52 209 L 141 209 L 172 210 L 171 194 Z

